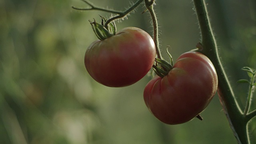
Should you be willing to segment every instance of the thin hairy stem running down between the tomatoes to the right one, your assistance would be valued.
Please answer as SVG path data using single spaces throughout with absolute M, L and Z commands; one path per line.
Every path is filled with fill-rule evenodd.
M 162 59 L 160 48 L 159 48 L 159 41 L 158 41 L 158 22 L 156 18 L 156 14 L 153 8 L 154 0 L 145 0 L 145 6 L 148 9 L 150 16 L 152 18 L 153 24 L 153 40 L 156 46 L 156 55 L 159 59 Z

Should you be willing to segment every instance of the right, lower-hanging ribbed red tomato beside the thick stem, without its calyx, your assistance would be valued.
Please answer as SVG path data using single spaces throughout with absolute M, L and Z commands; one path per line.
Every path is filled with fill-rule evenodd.
M 156 76 L 148 82 L 144 101 L 160 121 L 182 124 L 208 106 L 217 86 L 218 77 L 212 62 L 199 52 L 186 52 L 166 76 Z

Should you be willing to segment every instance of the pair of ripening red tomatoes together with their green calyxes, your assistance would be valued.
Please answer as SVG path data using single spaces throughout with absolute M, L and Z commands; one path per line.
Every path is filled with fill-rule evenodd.
M 129 86 L 153 66 L 158 76 L 146 85 L 144 101 L 152 114 L 166 124 L 188 122 L 208 106 L 218 78 L 206 56 L 186 52 L 172 66 L 172 62 L 155 59 L 154 41 L 144 30 L 129 27 L 116 33 L 112 27 L 109 33 L 104 26 L 91 24 L 100 40 L 88 47 L 84 64 L 94 80 L 109 87 Z

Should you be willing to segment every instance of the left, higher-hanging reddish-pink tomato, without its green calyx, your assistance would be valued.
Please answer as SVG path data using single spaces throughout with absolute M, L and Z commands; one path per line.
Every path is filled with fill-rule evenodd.
M 143 78 L 156 56 L 151 36 L 129 27 L 105 40 L 96 40 L 86 50 L 86 70 L 97 82 L 109 87 L 129 86 Z

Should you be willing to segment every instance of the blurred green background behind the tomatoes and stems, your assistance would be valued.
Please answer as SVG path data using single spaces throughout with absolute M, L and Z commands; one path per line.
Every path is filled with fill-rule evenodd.
M 130 0 L 92 0 L 125 10 Z M 135 0 L 133 0 L 135 2 Z M 157 0 L 162 54 L 172 46 L 174 60 L 200 41 L 191 0 Z M 88 20 L 110 14 L 82 12 L 80 0 L 0 1 L 0 143 L 1 144 L 235 144 L 218 96 L 194 119 L 180 125 L 159 122 L 146 108 L 145 76 L 132 86 L 109 88 L 86 72 L 84 53 L 96 40 Z M 248 78 L 243 66 L 256 68 L 256 1 L 211 0 L 208 3 L 220 56 L 244 108 Z M 117 23 L 152 34 L 141 5 Z M 256 108 L 256 98 L 253 100 Z M 252 142 L 256 121 L 250 124 Z

